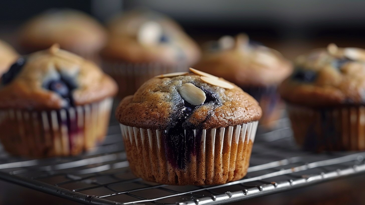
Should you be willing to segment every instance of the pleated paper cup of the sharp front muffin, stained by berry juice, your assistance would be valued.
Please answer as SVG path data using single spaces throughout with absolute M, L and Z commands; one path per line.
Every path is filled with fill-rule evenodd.
M 167 130 L 120 124 L 133 173 L 174 185 L 224 184 L 247 174 L 258 121 L 207 130 L 185 130 L 173 149 Z

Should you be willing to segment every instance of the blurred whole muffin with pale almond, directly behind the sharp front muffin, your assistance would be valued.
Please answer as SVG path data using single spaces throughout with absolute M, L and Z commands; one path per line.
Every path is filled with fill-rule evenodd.
M 200 56 L 197 44 L 172 19 L 134 10 L 113 18 L 102 51 L 104 69 L 119 83 L 120 97 L 167 72 L 187 71 Z

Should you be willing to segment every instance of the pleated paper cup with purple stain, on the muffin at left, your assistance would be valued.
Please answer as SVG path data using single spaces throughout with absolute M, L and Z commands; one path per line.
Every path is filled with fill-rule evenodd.
M 51 111 L 0 111 L 1 143 L 7 152 L 33 158 L 69 156 L 95 147 L 107 132 L 112 98 Z

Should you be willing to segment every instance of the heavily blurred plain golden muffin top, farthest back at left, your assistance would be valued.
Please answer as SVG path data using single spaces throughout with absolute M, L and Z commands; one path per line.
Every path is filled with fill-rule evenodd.
M 30 52 L 49 48 L 54 43 L 73 52 L 99 51 L 107 34 L 88 14 L 70 9 L 51 9 L 26 22 L 19 32 L 20 44 Z

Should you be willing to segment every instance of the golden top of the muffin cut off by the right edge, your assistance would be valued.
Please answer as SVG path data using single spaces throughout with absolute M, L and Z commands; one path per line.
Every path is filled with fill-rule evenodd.
M 365 50 L 335 44 L 297 57 L 280 86 L 289 103 L 312 107 L 365 103 Z

